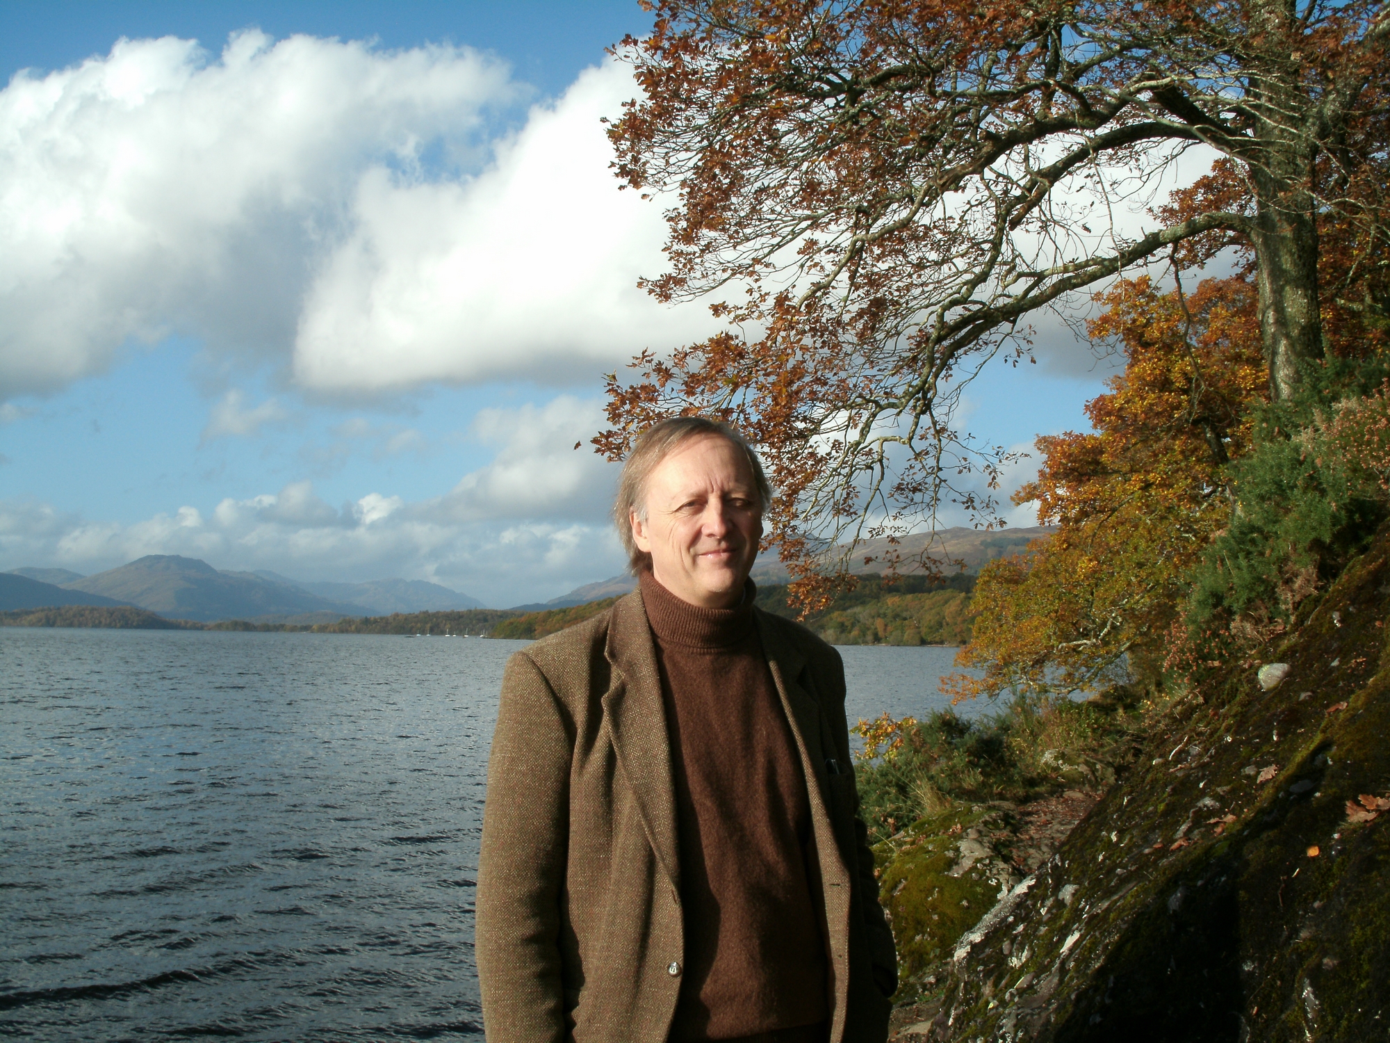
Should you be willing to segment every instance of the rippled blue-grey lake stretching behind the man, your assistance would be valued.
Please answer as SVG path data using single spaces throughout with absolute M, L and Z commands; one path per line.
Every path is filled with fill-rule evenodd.
M 0 1033 L 481 1039 L 486 752 L 525 644 L 0 629 Z M 944 705 L 955 649 L 840 651 L 851 723 Z

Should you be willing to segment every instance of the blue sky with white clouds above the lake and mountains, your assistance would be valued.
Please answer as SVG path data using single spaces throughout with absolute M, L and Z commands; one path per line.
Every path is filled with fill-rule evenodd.
M 712 330 L 635 289 L 659 209 L 606 170 L 605 46 L 646 24 L 0 6 L 0 569 L 186 553 L 489 605 L 620 572 L 613 469 L 571 446 L 603 371 Z M 972 431 L 1084 424 L 1090 349 L 1049 327 L 1038 359 L 986 370 Z

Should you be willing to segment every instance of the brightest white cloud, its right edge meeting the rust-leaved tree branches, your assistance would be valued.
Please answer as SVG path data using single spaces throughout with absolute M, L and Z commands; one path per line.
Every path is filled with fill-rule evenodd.
M 599 122 L 632 93 L 616 63 L 585 71 L 471 181 L 368 171 L 354 231 L 306 300 L 297 377 L 349 391 L 563 382 L 713 330 L 703 306 L 663 307 L 635 285 L 662 266 L 666 225 L 657 204 L 619 192 Z

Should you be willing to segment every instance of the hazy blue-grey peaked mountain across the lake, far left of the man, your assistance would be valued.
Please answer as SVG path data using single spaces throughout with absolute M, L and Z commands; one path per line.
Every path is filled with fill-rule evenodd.
M 253 573 L 218 572 L 207 562 L 178 555 L 152 553 L 65 584 L 65 588 L 115 598 L 161 616 L 203 623 L 306 613 L 361 615 L 357 605 L 329 601 Z

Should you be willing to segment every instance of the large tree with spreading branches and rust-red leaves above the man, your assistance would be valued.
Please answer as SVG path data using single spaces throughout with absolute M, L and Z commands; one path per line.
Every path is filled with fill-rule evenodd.
M 1027 357 L 1041 309 L 1243 246 L 1282 398 L 1323 356 L 1319 225 L 1368 264 L 1384 252 L 1380 0 L 653 10 L 621 50 L 642 97 L 610 129 L 617 172 L 678 199 L 651 292 L 714 295 L 731 332 L 644 355 L 635 384 L 614 374 L 598 444 L 620 453 L 673 412 L 737 420 L 803 576 L 942 498 L 992 517 L 1004 453 L 955 431 L 954 407 L 987 360 Z M 1184 157 L 1216 163 L 1127 229 Z M 958 481 L 977 470 L 984 491 Z

